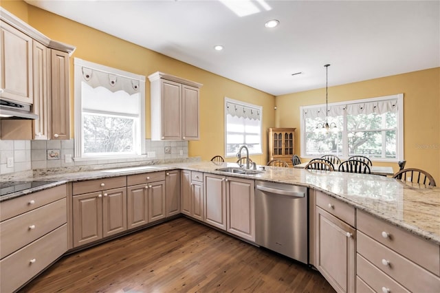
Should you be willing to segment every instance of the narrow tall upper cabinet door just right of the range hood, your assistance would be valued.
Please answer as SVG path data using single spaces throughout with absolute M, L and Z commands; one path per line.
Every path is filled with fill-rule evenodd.
M 39 116 L 33 121 L 34 140 L 50 138 L 50 49 L 39 42 L 33 42 L 34 113 Z

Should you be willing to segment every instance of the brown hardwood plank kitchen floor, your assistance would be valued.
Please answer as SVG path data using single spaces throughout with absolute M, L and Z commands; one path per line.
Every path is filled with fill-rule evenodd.
M 334 292 L 319 272 L 185 217 L 63 257 L 20 292 Z

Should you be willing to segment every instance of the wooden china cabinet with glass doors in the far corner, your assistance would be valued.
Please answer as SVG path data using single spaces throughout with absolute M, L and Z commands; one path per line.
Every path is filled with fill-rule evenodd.
M 292 166 L 292 156 L 295 153 L 294 132 L 296 128 L 270 128 L 267 129 L 269 140 L 268 159 L 283 160 Z

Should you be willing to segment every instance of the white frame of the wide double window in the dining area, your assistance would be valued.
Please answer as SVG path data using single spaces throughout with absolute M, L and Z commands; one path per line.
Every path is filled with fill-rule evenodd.
M 397 150 L 396 150 L 396 158 L 371 158 L 372 161 L 375 162 L 399 162 L 400 160 L 404 160 L 404 94 L 395 94 L 391 96 L 380 96 L 376 98 L 365 98 L 360 100 L 349 100 L 344 102 L 333 102 L 329 103 L 329 107 L 331 106 L 340 106 L 340 105 L 350 105 L 350 104 L 360 104 L 363 102 L 379 102 L 384 100 L 397 100 Z M 306 131 L 305 131 L 305 118 L 304 118 L 304 110 L 306 109 L 316 109 L 316 108 L 325 108 L 325 104 L 313 105 L 313 106 L 301 106 L 300 107 L 300 129 L 301 129 L 301 158 L 316 158 L 314 155 L 306 155 Z M 347 116 L 344 114 L 344 125 L 342 130 L 342 142 L 344 147 L 342 148 L 342 160 L 347 160 L 349 158 L 348 155 L 348 132 L 347 131 Z M 325 154 L 322 154 L 325 155 Z

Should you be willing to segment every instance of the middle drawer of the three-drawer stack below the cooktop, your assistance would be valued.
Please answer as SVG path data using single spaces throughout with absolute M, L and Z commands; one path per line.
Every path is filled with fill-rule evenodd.
M 0 223 L 0 258 L 28 245 L 67 221 L 66 199 L 36 208 Z

